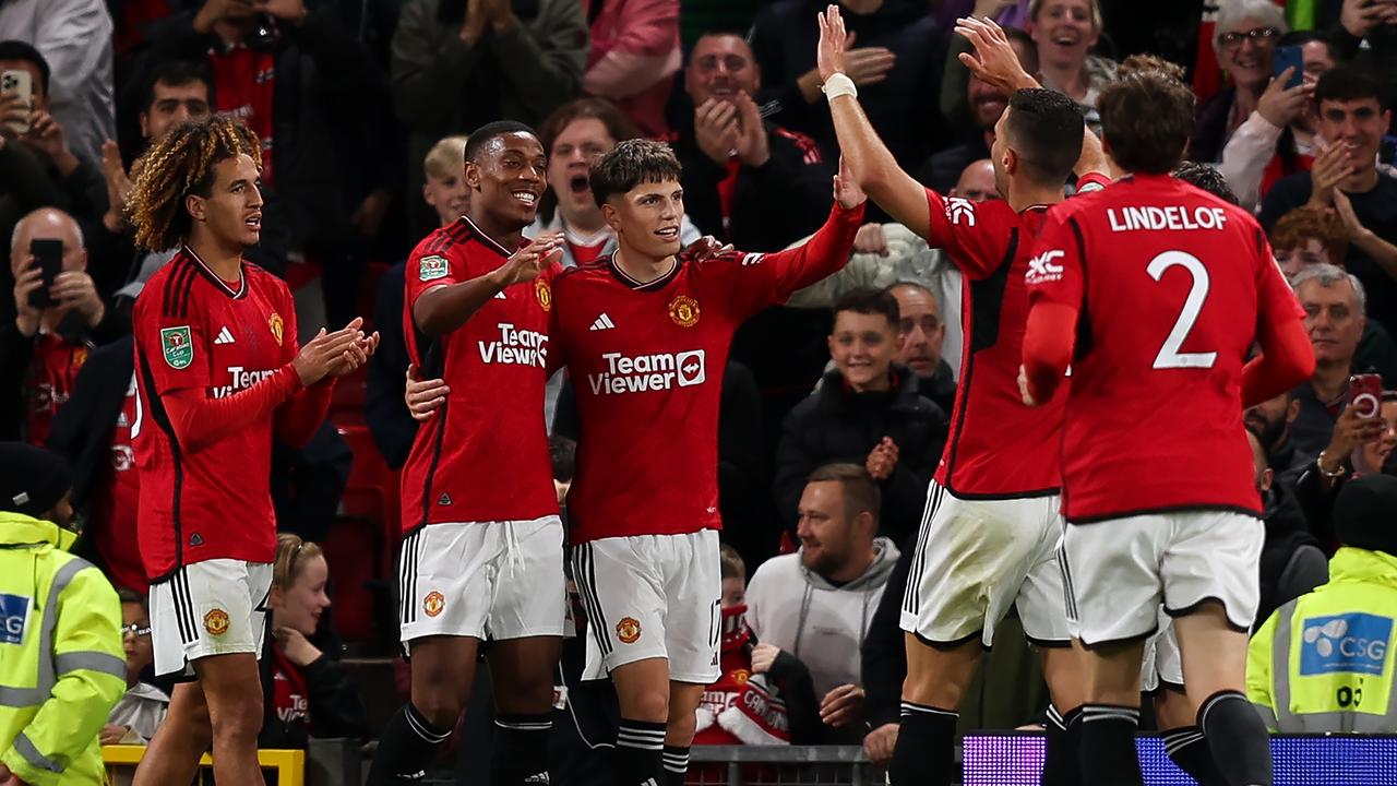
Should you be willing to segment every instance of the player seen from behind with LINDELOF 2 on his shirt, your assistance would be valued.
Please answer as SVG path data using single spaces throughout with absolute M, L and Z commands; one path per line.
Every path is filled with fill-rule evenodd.
M 1098 106 L 1130 175 L 1049 213 L 1020 378 L 1025 403 L 1051 400 L 1071 364 L 1063 569 L 1087 649 L 1083 780 L 1141 783 L 1140 657 L 1162 601 L 1218 769 L 1270 785 L 1243 694 L 1263 526 L 1242 410 L 1308 379 L 1313 351 L 1252 215 L 1169 176 L 1193 129 L 1189 88 L 1144 71 Z M 1243 366 L 1253 341 L 1263 354 Z

